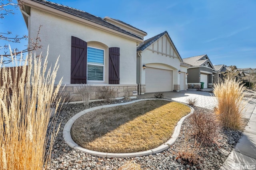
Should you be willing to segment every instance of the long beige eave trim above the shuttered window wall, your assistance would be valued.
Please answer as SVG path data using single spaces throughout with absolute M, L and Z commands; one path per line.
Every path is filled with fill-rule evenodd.
M 60 10 L 56 10 L 54 8 L 50 8 L 50 7 L 45 6 L 43 4 L 39 4 L 37 2 L 33 2 L 33 1 L 30 1 L 30 0 L 22 0 L 22 3 L 23 3 L 22 5 L 33 7 L 33 8 L 39 9 L 39 10 L 44 10 L 46 12 L 49 12 L 51 14 L 55 14 L 57 16 L 62 16 L 62 17 L 68 18 L 68 19 L 73 20 L 73 21 L 77 21 L 77 22 L 80 22 L 80 23 L 84 23 L 86 25 L 90 25 L 91 27 L 94 27 L 94 28 L 98 28 L 100 30 L 107 31 L 109 33 L 114 33 L 114 34 L 120 35 L 120 36 L 128 38 L 130 40 L 134 40 L 137 43 L 143 42 L 143 39 L 139 39 L 139 38 L 133 37 L 133 36 L 128 35 L 126 33 L 122 33 L 122 32 L 117 31 L 115 29 L 106 27 L 104 25 L 100 25 L 99 23 L 92 22 L 92 21 L 90 21 L 90 20 L 88 20 L 86 18 L 79 18 L 79 17 L 76 17 L 74 15 L 68 14 L 66 12 L 62 12 Z

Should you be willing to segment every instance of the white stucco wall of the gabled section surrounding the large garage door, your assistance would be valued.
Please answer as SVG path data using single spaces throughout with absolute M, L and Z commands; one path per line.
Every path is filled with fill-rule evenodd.
M 137 72 L 137 83 L 141 84 L 141 86 L 147 86 L 146 70 L 143 70 L 142 68 L 142 65 L 146 64 L 146 67 L 150 68 L 172 70 L 172 89 L 179 90 L 179 88 L 177 88 L 180 84 L 180 74 L 178 71 L 180 70 L 181 72 L 187 72 L 187 67 L 181 66 L 181 63 L 182 60 L 180 59 L 178 52 L 174 48 L 174 45 L 166 33 L 143 51 L 137 51 L 137 69 L 140 69 L 140 72 Z

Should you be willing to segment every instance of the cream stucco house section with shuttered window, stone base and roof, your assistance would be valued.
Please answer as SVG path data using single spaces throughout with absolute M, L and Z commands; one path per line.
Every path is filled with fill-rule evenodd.
M 136 47 L 146 32 L 46 0 L 22 0 L 20 10 L 30 38 L 36 37 L 42 25 L 40 50 L 46 56 L 49 45 L 48 63 L 54 64 L 60 55 L 56 82 L 63 77 L 64 91 L 78 94 L 77 84 L 82 83 L 95 87 L 92 100 L 99 98 L 103 86 L 115 88 L 116 97 L 133 96 L 137 90 Z M 172 55 L 182 61 L 176 51 Z

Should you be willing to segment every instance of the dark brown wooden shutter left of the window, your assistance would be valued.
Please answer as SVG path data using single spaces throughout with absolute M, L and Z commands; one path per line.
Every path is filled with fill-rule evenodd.
M 86 84 L 87 43 L 71 37 L 71 84 Z

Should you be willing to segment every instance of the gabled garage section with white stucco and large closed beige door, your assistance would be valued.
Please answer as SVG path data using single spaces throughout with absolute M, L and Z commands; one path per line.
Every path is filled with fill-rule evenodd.
M 140 94 L 187 89 L 187 68 L 167 31 L 137 48 L 137 84 Z

